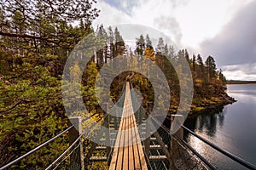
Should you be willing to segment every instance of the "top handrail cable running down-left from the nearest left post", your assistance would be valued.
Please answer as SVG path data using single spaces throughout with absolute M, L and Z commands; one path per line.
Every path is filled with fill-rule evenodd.
M 18 157 L 17 159 L 15 159 L 14 161 L 9 162 L 9 163 L 6 164 L 5 166 L 0 167 L 0 170 L 3 170 L 3 169 L 5 169 L 5 168 L 7 168 L 7 167 L 10 167 L 10 166 L 14 165 L 14 164 L 17 163 L 18 161 L 24 159 L 26 156 L 30 156 L 33 152 L 35 152 L 35 151 L 41 149 L 42 147 L 44 147 L 44 145 L 49 144 L 50 142 L 52 142 L 52 141 L 54 141 L 55 139 L 59 138 L 62 134 L 67 133 L 67 131 L 70 130 L 72 127 L 74 127 L 74 125 L 72 125 L 72 126 L 70 126 L 70 127 L 67 127 L 67 129 L 64 130 L 63 132 L 57 134 L 55 137 L 53 137 L 52 139 L 47 140 L 47 141 L 44 142 L 43 144 L 38 145 L 36 148 L 34 148 L 33 150 L 30 150 L 29 152 L 27 152 L 27 153 L 24 154 L 23 156 L 20 156 L 20 157 Z

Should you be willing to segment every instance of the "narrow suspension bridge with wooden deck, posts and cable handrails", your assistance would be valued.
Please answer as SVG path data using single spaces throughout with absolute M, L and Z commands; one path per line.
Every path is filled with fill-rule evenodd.
M 150 116 L 148 113 L 150 105 L 148 105 L 147 110 L 140 107 L 137 111 L 134 111 L 134 108 L 137 108 L 138 101 L 136 96 L 131 94 L 131 88 L 130 82 L 125 82 L 122 97 L 117 103 L 117 105 L 123 108 L 122 116 L 116 117 L 106 114 L 98 121 L 98 123 L 103 122 L 102 125 L 108 127 L 108 132 L 96 134 L 97 138 L 102 141 L 102 144 L 96 144 L 89 142 L 86 138 L 84 139 L 84 136 L 90 135 L 90 133 L 84 133 L 82 130 L 83 122 L 86 123 L 88 119 L 82 120 L 81 117 L 72 117 L 69 120 L 70 126 L 66 130 L 44 142 L 44 144 L 38 145 L 38 147 L 27 152 L 25 155 L 0 167 L 0 170 L 15 169 L 13 166 L 20 160 L 35 154 L 37 150 L 60 138 L 65 133 L 68 133 L 69 136 L 69 147 L 44 169 L 84 170 L 106 169 L 106 167 L 110 170 L 218 169 L 183 139 L 183 131 L 187 131 L 187 133 L 212 147 L 212 150 L 218 150 L 218 152 L 241 164 L 243 167 L 256 169 L 255 165 L 242 160 L 226 150 L 220 149 L 217 145 L 212 144 L 207 139 L 203 139 L 183 125 L 177 133 L 171 134 L 170 127 L 166 127 L 163 123 Z M 170 117 L 169 121 L 171 123 L 175 116 L 177 115 Z M 146 119 L 149 119 L 151 123 L 148 123 Z M 91 125 L 91 128 L 93 126 L 96 126 L 96 123 Z M 104 167 L 101 167 L 102 165 Z

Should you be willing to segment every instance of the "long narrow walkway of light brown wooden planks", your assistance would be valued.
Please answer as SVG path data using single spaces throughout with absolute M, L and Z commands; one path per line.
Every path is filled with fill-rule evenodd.
M 129 82 L 126 82 L 123 116 L 109 169 L 148 169 L 132 108 Z

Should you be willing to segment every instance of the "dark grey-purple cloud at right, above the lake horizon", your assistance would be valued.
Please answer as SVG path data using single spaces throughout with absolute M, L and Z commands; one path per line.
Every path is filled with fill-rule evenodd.
M 256 62 L 256 1 L 247 4 L 218 32 L 201 43 L 201 54 L 211 54 L 218 65 L 241 65 Z

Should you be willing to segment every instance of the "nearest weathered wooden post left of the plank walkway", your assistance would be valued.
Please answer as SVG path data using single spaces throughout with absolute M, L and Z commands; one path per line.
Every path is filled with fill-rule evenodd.
M 74 125 L 74 127 L 68 132 L 69 144 L 73 144 L 73 142 L 75 142 L 82 133 L 82 119 L 80 116 L 70 117 L 69 123 Z M 73 151 L 70 156 L 70 167 L 81 166 L 81 170 L 84 170 L 84 149 L 82 139 L 80 139 L 79 145 L 79 150 Z

